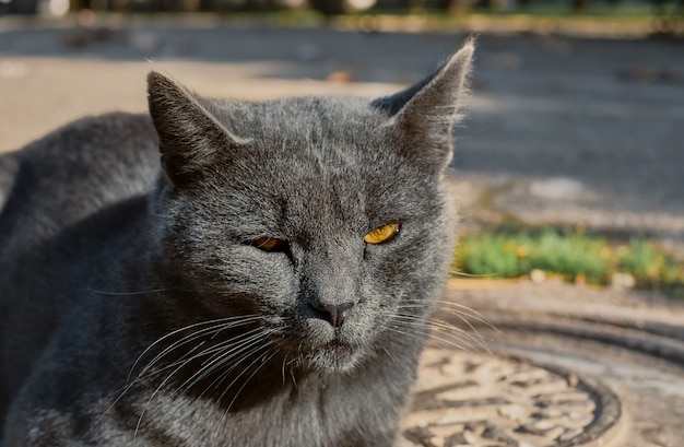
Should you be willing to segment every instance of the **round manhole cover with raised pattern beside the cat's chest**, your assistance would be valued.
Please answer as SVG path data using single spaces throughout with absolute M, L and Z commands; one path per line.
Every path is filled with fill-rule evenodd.
M 620 420 L 595 380 L 515 357 L 427 349 L 401 446 L 588 446 Z

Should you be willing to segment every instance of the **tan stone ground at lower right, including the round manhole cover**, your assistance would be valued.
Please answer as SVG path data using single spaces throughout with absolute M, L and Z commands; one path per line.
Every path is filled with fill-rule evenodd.
M 425 355 L 408 445 L 682 445 L 684 306 L 556 282 L 465 285 L 449 284 L 439 321 L 462 331 L 435 325 L 443 349 Z

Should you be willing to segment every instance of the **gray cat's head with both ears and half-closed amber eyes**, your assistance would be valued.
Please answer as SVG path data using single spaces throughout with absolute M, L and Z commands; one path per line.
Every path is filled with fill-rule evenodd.
M 161 258 L 188 306 L 317 370 L 415 346 L 452 255 L 444 173 L 472 54 L 369 103 L 209 99 L 150 73 Z

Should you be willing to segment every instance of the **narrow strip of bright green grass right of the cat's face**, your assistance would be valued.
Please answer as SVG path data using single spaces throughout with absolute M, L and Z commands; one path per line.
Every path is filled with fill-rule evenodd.
M 621 245 L 569 228 L 485 231 L 460 238 L 455 267 L 459 273 L 486 278 L 516 278 L 541 270 L 569 282 L 597 285 L 627 273 L 639 289 L 684 298 L 684 266 L 642 237 Z

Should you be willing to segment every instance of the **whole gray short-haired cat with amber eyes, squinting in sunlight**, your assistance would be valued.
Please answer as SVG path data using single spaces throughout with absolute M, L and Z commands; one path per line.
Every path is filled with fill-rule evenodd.
M 3 446 L 393 445 L 472 52 L 372 103 L 152 72 L 150 115 L 2 155 Z

